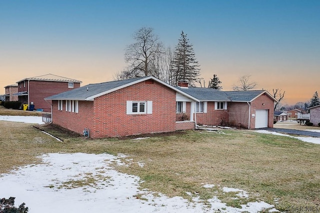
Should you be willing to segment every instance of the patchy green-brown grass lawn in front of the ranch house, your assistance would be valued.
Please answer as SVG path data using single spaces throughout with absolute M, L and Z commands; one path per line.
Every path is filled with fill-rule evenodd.
M 117 170 L 138 175 L 149 188 L 167 196 L 217 196 L 230 206 L 263 200 L 281 211 L 320 205 L 320 145 L 250 130 L 182 131 L 130 138 L 85 139 L 42 126 L 63 139 L 59 142 L 25 123 L 0 121 L 0 173 L 19 165 L 38 163 L 35 156 L 50 152 L 124 153 L 132 158 Z M 123 162 L 126 160 L 123 159 Z M 143 162 L 140 167 L 138 162 Z M 65 182 L 61 187 L 92 185 L 94 179 Z M 95 178 L 95 177 L 94 177 Z M 202 184 L 215 184 L 213 188 Z M 249 198 L 224 193 L 222 187 L 249 192 Z M 47 186 L 56 187 L 56 186 Z M 194 193 L 196 192 L 196 194 Z M 277 201 L 276 201 L 277 200 Z

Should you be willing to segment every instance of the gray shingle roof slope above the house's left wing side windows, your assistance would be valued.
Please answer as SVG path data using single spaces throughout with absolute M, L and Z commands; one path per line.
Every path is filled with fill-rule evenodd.
M 133 81 L 142 79 L 144 77 L 138 78 L 131 78 L 125 80 L 115 80 L 103 83 L 91 83 L 85 86 L 81 86 L 69 91 L 65 91 L 59 94 L 55 94 L 45 99 L 77 99 L 77 100 L 84 100 L 91 96 L 95 96 L 99 93 L 114 89 L 119 86 L 124 86 L 125 84 L 131 83 Z

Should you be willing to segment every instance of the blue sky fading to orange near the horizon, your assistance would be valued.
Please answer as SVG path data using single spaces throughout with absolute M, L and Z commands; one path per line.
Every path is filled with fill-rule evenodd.
M 113 80 L 142 26 L 171 48 L 183 30 L 201 77 L 223 90 L 251 75 L 256 89 L 285 90 L 282 104 L 320 92 L 320 0 L 1 0 L 0 94 L 48 73 Z

